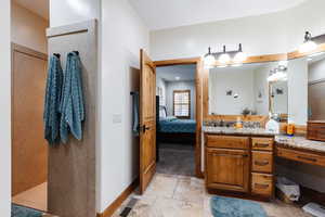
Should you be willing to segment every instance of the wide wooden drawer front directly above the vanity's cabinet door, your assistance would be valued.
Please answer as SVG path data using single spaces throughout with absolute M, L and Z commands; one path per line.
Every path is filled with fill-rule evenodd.
M 206 136 L 207 145 L 209 148 L 221 149 L 249 149 L 248 137 L 232 137 L 232 136 Z

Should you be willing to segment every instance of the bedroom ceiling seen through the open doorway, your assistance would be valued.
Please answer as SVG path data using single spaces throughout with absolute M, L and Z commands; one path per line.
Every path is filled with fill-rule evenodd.
M 156 68 L 157 76 L 165 81 L 188 81 L 195 79 L 196 65 L 173 65 Z M 179 80 L 176 78 L 179 77 Z

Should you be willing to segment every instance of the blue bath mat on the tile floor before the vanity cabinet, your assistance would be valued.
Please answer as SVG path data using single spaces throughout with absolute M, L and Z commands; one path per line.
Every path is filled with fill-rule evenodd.
M 251 201 L 213 196 L 210 204 L 214 217 L 268 217 L 263 207 Z

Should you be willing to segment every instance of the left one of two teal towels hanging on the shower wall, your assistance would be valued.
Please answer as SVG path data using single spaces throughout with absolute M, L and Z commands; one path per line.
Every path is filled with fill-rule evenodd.
M 60 59 L 51 56 L 44 102 L 44 138 L 50 144 L 60 142 L 60 101 L 63 82 L 63 71 Z

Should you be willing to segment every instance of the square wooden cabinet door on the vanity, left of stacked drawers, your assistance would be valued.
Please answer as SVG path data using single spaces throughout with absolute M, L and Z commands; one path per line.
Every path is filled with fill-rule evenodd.
M 248 151 L 207 149 L 206 156 L 206 181 L 208 188 L 248 192 Z

